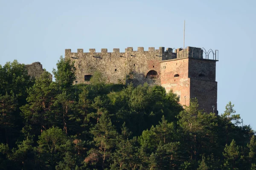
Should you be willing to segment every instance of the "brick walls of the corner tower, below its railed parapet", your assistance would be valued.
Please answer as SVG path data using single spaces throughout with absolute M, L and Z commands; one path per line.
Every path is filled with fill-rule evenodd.
M 181 105 L 189 105 L 189 99 L 196 97 L 201 109 L 212 112 L 212 105 L 214 105 L 215 111 L 217 110 L 215 61 L 181 58 L 160 63 L 161 85 L 166 92 L 172 89 L 175 94 L 180 96 Z M 175 77 L 177 74 L 179 77 Z

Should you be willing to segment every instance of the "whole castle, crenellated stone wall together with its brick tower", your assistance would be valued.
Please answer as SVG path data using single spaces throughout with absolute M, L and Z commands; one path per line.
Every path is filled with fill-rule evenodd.
M 181 105 L 189 105 L 189 99 L 196 97 L 205 111 L 212 112 L 212 106 L 217 111 L 216 53 L 210 51 L 213 57 L 209 59 L 203 48 L 164 49 L 150 47 L 144 51 L 138 47 L 133 51 L 128 47 L 123 53 L 119 48 L 111 53 L 105 48 L 101 52 L 89 49 L 87 53 L 83 49 L 76 53 L 66 49 L 65 58 L 75 64 L 77 83 L 89 83 L 93 73 L 100 71 L 108 82 L 162 85 L 167 92 L 172 89 L 180 96 Z

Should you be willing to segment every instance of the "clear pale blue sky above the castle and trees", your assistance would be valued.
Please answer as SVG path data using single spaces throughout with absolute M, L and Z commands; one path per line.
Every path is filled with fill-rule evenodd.
M 231 101 L 256 130 L 256 0 L 0 0 L 0 64 L 41 62 L 64 49 L 183 47 L 219 50 L 218 111 Z

